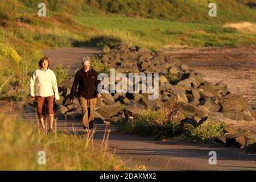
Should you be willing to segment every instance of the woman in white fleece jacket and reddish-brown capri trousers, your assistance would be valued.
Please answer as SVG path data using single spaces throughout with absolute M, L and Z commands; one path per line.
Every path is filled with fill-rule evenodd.
M 49 69 L 49 60 L 47 57 L 42 57 L 39 61 L 39 69 L 33 73 L 30 79 L 30 96 L 35 98 L 36 112 L 40 119 L 43 132 L 46 131 L 44 125 L 44 110 L 49 115 L 49 133 L 54 133 L 53 130 L 53 100 L 59 100 L 59 91 L 55 73 Z M 34 92 L 35 85 L 35 92 Z

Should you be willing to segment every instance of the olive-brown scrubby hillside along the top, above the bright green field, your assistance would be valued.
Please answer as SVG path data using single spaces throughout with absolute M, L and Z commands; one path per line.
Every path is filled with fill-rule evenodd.
M 85 0 L 85 2 L 105 13 L 137 18 L 208 23 L 256 20 L 254 0 Z M 208 16 L 210 2 L 217 5 L 217 18 Z

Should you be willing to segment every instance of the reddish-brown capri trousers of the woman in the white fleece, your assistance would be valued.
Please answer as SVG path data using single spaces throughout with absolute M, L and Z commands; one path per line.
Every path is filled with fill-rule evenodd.
M 35 100 L 36 100 L 36 113 L 38 114 L 38 118 L 43 118 L 44 115 L 46 115 L 46 112 L 48 114 L 54 114 L 54 111 L 53 111 L 54 96 L 49 96 L 49 97 L 36 96 Z

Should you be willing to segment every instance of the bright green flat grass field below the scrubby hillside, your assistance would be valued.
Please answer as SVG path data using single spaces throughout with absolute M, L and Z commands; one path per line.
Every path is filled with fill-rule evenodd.
M 237 47 L 256 42 L 255 35 L 223 28 L 221 24 L 171 22 L 121 16 L 76 16 L 75 19 L 98 28 L 102 32 L 101 35 L 115 36 L 130 46 Z

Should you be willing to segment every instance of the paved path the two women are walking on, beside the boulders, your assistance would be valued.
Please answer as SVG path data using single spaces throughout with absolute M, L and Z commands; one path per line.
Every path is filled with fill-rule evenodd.
M 92 55 L 91 48 L 63 48 L 44 51 L 51 59 L 52 64 L 60 62 L 67 65 L 76 63 L 81 56 Z M 92 52 L 99 51 L 93 49 Z M 63 60 L 60 58 L 64 57 Z M 56 60 L 55 60 L 56 59 Z M 67 62 L 65 62 L 67 61 Z M 76 67 L 72 65 L 74 69 Z M 0 111 L 18 114 L 25 121 L 36 123 L 35 109 L 24 106 L 19 109 L 19 104 L 14 104 L 12 109 L 10 103 L 0 101 Z M 11 110 L 11 111 L 10 111 Z M 64 118 L 60 114 L 57 117 L 57 130 L 81 132 L 81 123 L 77 119 Z M 101 142 L 105 124 L 96 122 L 96 134 L 94 140 Z M 148 170 L 256 170 L 256 155 L 244 152 L 239 148 L 216 147 L 210 145 L 198 145 L 192 143 L 159 142 L 150 137 L 139 137 L 137 135 L 125 135 L 115 132 L 113 126 L 109 137 L 109 150 L 115 152 L 127 165 L 135 167 L 143 164 Z M 208 163 L 209 151 L 217 152 L 217 164 Z

